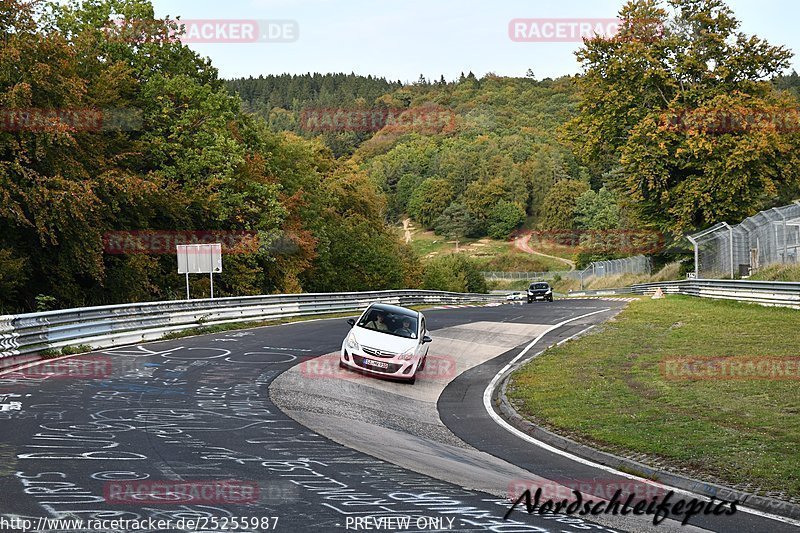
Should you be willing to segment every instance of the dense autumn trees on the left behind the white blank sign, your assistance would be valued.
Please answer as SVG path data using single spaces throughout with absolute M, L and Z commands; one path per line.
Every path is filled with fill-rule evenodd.
M 153 23 L 119 38 L 120 16 Z M 174 250 L 106 249 L 148 231 L 255 236 L 219 296 L 419 286 L 364 170 L 246 112 L 170 24 L 145 0 L 0 5 L 0 309 L 181 297 Z

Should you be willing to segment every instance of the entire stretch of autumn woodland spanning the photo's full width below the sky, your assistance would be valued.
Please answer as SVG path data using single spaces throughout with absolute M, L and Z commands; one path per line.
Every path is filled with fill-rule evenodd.
M 153 23 L 120 38 L 109 25 L 119 17 Z M 8 0 L 0 306 L 179 297 L 174 255 L 108 253 L 120 232 L 255 236 L 225 256 L 220 295 L 477 291 L 469 261 L 423 264 L 391 224 L 409 215 L 448 238 L 522 227 L 680 237 L 797 197 L 791 53 L 742 34 L 721 0 L 630 1 L 619 18 L 617 36 L 584 42 L 578 75 L 555 80 L 226 81 L 147 0 Z M 390 119 L 304 124 L 327 108 Z

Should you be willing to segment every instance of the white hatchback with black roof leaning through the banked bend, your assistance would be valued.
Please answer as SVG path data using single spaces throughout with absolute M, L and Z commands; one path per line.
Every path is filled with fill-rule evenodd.
M 352 326 L 342 342 L 339 366 L 414 383 L 425 368 L 431 342 L 419 311 L 375 303 Z

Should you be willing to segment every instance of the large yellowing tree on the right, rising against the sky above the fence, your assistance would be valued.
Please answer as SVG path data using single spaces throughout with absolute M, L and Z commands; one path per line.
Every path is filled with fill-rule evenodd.
M 674 17 L 663 2 L 629 2 L 618 38 L 586 41 L 569 131 L 597 175 L 622 164 L 612 185 L 643 223 L 680 234 L 800 190 L 796 131 L 758 120 L 797 104 L 769 83 L 788 50 L 740 33 L 722 0 L 667 4 Z

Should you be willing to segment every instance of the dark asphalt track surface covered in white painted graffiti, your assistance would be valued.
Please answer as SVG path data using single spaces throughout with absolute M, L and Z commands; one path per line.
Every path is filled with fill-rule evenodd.
M 435 345 L 437 330 L 466 332 L 474 323 L 527 328 L 621 305 L 576 300 L 425 314 Z M 600 313 L 596 321 L 611 314 Z M 542 345 L 585 327 L 576 323 L 556 330 Z M 59 361 L 58 376 L 43 373 L 40 366 L 0 375 L 0 530 L 13 531 L 8 527 L 12 519 L 28 519 L 34 524 L 29 531 L 82 531 L 64 523 L 55 528 L 42 525 L 39 520 L 44 517 L 152 518 L 173 524 L 194 519 L 193 527 L 184 522 L 183 530 L 197 532 L 354 531 L 367 526 L 389 531 L 404 523 L 395 520 L 380 527 L 364 522 L 365 517 L 411 517 L 405 529 L 409 531 L 640 530 L 593 518 L 518 511 L 504 521 L 509 503 L 497 493 L 437 479 L 428 474 L 439 473 L 427 472 L 425 465 L 414 468 L 398 461 L 404 465 L 398 466 L 376 457 L 391 454 L 346 447 L 284 414 L 270 397 L 270 384 L 287 370 L 297 372 L 299 365 L 337 351 L 348 329 L 345 319 L 299 322 L 85 354 Z M 493 460 L 551 479 L 608 478 L 607 472 L 545 454 L 497 426 L 482 410 L 486 384 L 519 349 L 471 366 L 443 384 L 433 401 L 438 401 L 445 429 L 431 424 L 411 430 L 416 433 L 412 436 L 456 439 L 451 444 L 457 449 L 490 454 Z M 306 381 L 322 383 L 311 377 Z M 375 381 L 382 383 L 378 388 L 389 387 L 399 397 L 426 386 L 424 379 L 414 386 Z M 369 402 L 358 409 L 363 416 L 353 418 L 362 423 L 392 425 Z M 391 429 L 400 433 L 407 428 L 401 424 Z M 434 434 L 426 435 L 429 430 Z M 226 487 L 244 488 L 238 493 L 220 491 L 223 480 L 228 480 Z M 184 484 L 181 494 L 193 487 L 194 499 L 165 501 L 157 487 L 174 486 L 176 481 Z M 142 497 L 142 486 L 156 487 L 145 501 L 135 499 Z M 208 486 L 216 486 L 216 492 L 199 490 Z M 131 489 L 133 495 L 126 492 Z M 242 495 L 248 497 L 242 501 Z M 257 526 L 244 527 L 245 518 Z M 114 525 L 103 530 L 182 530 Z M 727 520 L 705 518 L 697 525 L 685 530 L 798 530 L 743 512 Z

